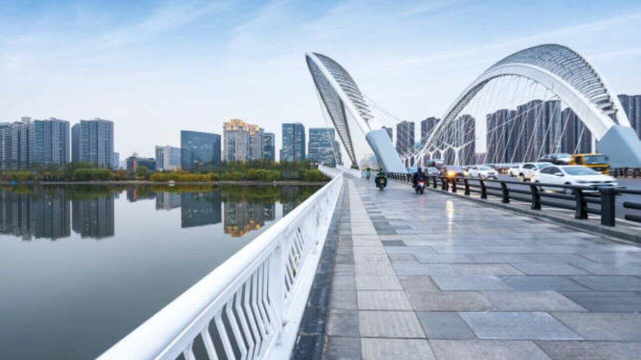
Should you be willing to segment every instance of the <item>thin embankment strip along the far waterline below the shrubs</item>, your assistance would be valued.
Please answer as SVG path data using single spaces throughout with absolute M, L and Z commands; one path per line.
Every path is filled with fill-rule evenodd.
M 185 182 L 162 182 L 162 181 L 149 181 L 149 180 L 108 180 L 108 181 L 31 181 L 29 183 L 12 183 L 10 181 L 0 181 L 0 185 L 165 185 L 165 186 L 179 186 L 179 185 L 235 185 L 235 186 L 322 186 L 328 181 L 299 181 L 299 180 L 278 180 L 278 181 L 185 181 Z

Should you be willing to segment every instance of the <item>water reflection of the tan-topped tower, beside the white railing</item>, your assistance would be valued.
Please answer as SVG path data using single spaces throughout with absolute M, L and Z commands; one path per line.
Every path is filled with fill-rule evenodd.
M 225 233 L 237 238 L 276 218 L 276 203 L 225 202 Z

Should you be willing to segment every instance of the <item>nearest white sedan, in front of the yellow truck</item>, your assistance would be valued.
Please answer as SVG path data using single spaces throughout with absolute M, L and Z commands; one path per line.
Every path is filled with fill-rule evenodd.
M 617 180 L 609 175 L 581 165 L 552 165 L 533 174 L 532 181 L 542 184 L 573 185 L 573 186 L 595 186 L 597 188 L 617 187 Z M 560 191 L 561 188 L 553 186 L 541 186 L 542 190 Z M 566 193 L 572 193 L 572 189 L 565 189 Z M 588 190 L 590 191 L 590 190 Z

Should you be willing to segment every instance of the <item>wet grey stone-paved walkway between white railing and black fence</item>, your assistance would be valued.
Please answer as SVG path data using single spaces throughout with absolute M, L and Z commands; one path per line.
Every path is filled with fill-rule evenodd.
M 347 178 L 326 359 L 638 359 L 641 249 Z

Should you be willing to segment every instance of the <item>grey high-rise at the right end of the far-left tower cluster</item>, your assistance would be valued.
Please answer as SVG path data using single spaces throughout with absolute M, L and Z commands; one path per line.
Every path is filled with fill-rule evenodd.
M 113 167 L 113 122 L 96 118 L 72 126 L 71 160 Z

